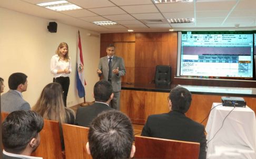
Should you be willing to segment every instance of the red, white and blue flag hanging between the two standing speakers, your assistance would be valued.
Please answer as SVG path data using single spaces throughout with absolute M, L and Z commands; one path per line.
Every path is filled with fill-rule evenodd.
M 78 96 L 80 98 L 85 96 L 84 86 L 86 82 L 84 80 L 84 61 L 82 53 L 82 45 L 80 39 L 80 32 L 78 31 L 78 48 L 77 48 L 77 69 L 76 69 L 76 88 L 78 91 Z

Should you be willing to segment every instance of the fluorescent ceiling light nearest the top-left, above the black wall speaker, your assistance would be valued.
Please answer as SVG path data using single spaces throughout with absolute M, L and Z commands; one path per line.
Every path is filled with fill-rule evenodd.
M 57 11 L 57 12 L 82 9 L 80 6 L 74 5 L 67 1 L 47 2 L 47 3 L 36 4 L 36 5 L 45 7 L 48 9 L 52 9 L 53 11 Z

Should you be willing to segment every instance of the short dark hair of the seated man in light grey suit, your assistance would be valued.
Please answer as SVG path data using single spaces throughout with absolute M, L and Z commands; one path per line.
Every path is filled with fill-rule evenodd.
M 11 90 L 17 90 L 18 85 L 25 84 L 27 80 L 27 75 L 24 73 L 13 73 L 9 76 L 8 86 Z

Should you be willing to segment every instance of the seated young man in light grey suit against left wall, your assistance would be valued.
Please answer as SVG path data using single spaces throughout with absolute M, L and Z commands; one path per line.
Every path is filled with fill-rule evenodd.
M 1 111 L 11 113 L 19 110 L 30 110 L 30 105 L 23 100 L 22 92 L 27 91 L 27 76 L 14 73 L 9 76 L 10 90 L 1 96 Z

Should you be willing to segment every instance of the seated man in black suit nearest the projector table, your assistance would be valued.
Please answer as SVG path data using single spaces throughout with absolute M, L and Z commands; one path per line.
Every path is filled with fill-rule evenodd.
M 192 101 L 191 93 L 175 87 L 168 97 L 170 112 L 150 115 L 141 136 L 200 143 L 199 158 L 206 158 L 204 126 L 186 117 Z

